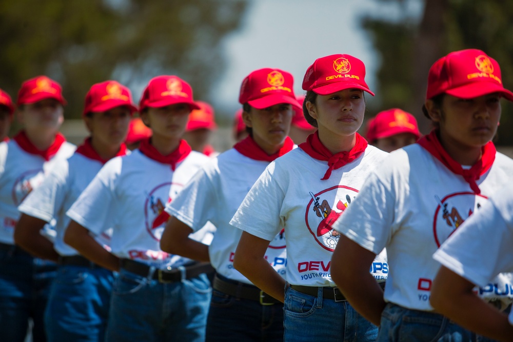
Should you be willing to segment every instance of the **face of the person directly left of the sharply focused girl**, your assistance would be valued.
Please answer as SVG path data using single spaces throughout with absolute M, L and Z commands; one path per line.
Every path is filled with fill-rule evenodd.
M 261 147 L 283 144 L 290 130 L 292 115 L 292 105 L 286 103 L 264 109 L 251 108 L 250 113 L 242 113 L 244 123 L 252 129 L 255 143 Z

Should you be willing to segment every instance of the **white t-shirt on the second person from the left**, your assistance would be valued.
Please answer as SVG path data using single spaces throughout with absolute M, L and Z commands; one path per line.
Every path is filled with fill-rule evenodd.
M 78 255 L 79 253 L 64 243 L 64 233 L 70 218 L 66 211 L 71 208 L 78 196 L 89 185 L 103 163 L 74 153 L 70 158 L 55 164 L 52 172 L 43 180 L 40 187 L 34 189 L 18 210 L 27 215 L 40 218 L 46 222 L 55 219 L 57 233 L 53 248 L 62 256 Z M 110 234 L 102 233 L 96 237 L 98 243 L 110 249 Z

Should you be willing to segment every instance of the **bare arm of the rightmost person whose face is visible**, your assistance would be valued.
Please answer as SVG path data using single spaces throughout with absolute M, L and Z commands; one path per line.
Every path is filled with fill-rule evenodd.
M 341 236 L 331 257 L 331 278 L 351 306 L 379 326 L 385 308 L 383 290 L 369 272 L 376 254 Z

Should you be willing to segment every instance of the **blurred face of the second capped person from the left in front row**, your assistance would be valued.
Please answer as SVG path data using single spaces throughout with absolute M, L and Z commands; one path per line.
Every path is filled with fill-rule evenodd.
M 115 107 L 105 112 L 93 112 L 84 117 L 93 140 L 105 145 L 121 145 L 126 138 L 130 124 L 130 109 L 126 106 Z

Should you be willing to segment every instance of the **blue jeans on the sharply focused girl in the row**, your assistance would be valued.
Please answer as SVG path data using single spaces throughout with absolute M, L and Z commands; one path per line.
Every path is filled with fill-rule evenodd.
M 285 290 L 285 341 L 375 341 L 378 327 L 356 312 L 347 300 Z

